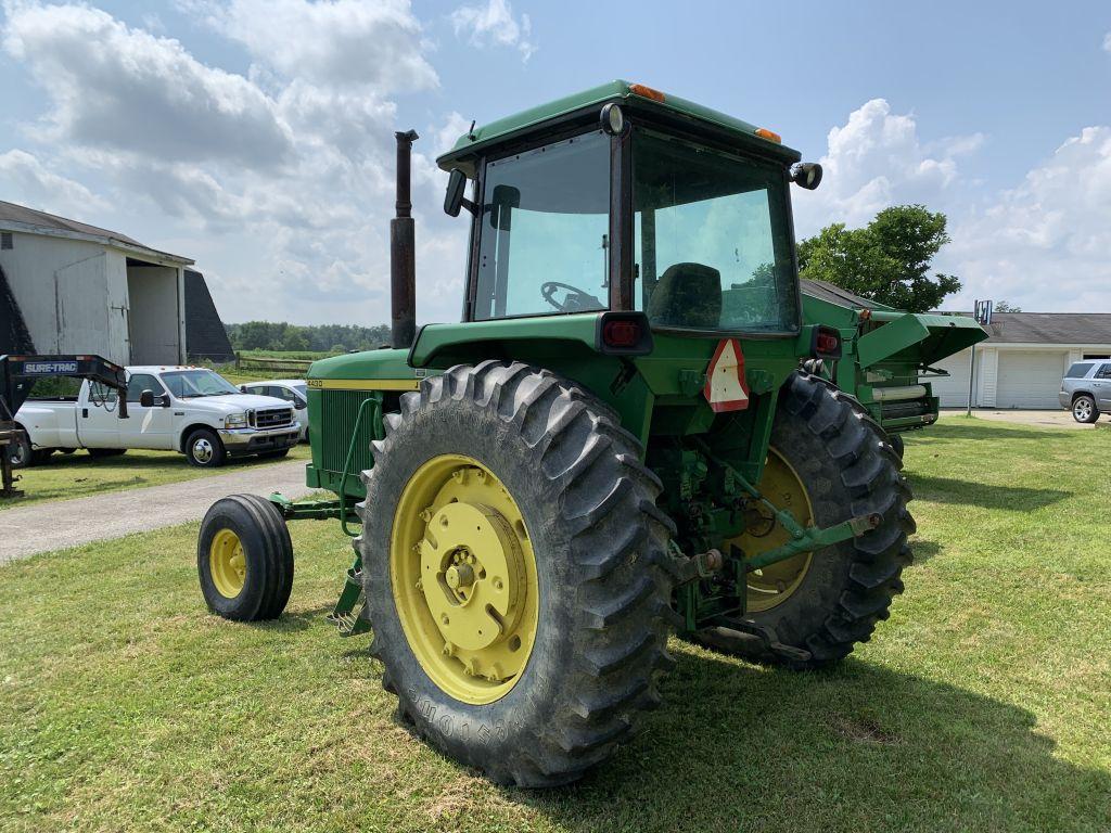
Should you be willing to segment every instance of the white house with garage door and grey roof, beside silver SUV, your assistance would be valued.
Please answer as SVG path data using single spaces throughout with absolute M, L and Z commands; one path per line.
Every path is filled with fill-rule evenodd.
M 997 312 L 990 337 L 975 345 L 973 408 L 1060 408 L 1061 379 L 1072 362 L 1111 357 L 1111 313 Z M 940 362 L 933 379 L 942 408 L 964 408 L 970 351 Z

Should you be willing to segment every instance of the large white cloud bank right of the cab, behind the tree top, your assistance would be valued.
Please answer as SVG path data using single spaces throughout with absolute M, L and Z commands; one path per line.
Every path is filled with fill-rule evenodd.
M 1085 128 L 1018 184 L 994 192 L 960 168 L 984 141 L 925 142 L 912 114 L 892 113 L 883 99 L 864 103 L 830 130 L 821 187 L 793 190 L 799 237 L 921 202 L 949 218 L 952 243 L 934 269 L 964 288 L 947 309 L 993 298 L 1030 311 L 1111 311 L 1111 127 Z

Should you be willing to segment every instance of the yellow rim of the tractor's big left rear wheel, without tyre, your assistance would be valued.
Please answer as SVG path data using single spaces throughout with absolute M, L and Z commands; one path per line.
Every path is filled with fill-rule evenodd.
M 540 585 L 524 518 L 490 469 L 443 454 L 413 473 L 393 513 L 390 583 L 409 646 L 442 691 L 481 705 L 517 684 Z

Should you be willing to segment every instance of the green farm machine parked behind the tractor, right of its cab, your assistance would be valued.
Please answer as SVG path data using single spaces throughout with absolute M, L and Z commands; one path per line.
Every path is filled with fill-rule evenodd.
M 903 312 L 824 281 L 801 283 L 802 320 L 837 328 L 842 342 L 840 359 L 803 367 L 852 393 L 902 456 L 902 433 L 938 421 L 930 380 L 948 373 L 935 365 L 988 333 L 964 315 Z

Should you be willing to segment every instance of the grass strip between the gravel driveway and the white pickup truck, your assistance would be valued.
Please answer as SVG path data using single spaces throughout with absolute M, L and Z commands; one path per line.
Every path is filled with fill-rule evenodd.
M 309 446 L 302 443 L 294 446 L 286 459 L 308 460 L 309 456 Z M 87 498 L 121 489 L 177 483 L 273 462 L 258 456 L 230 458 L 219 469 L 198 469 L 189 464 L 184 454 L 172 451 L 132 449 L 121 456 L 100 460 L 93 460 L 83 451 L 56 453 L 42 465 L 16 472 L 21 478 L 16 486 L 22 489 L 24 494 L 22 498 L 0 500 L 0 511 L 40 501 Z

